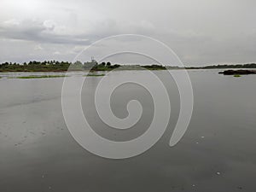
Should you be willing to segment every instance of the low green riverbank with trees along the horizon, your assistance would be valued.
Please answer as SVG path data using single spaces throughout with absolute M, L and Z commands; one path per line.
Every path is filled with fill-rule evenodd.
M 67 61 L 30 61 L 29 63 L 9 63 L 5 62 L 0 64 L 0 73 L 36 73 L 36 72 L 48 72 L 48 73 L 66 73 L 90 71 L 90 72 L 103 72 L 115 70 L 170 70 L 170 69 L 229 69 L 229 68 L 255 68 L 255 63 L 249 64 L 237 64 L 237 65 L 211 65 L 205 67 L 177 67 L 177 66 L 162 66 L 162 65 L 119 65 L 111 64 L 110 62 L 102 62 L 101 64 L 92 62 L 80 62 L 74 63 Z

